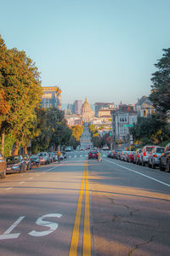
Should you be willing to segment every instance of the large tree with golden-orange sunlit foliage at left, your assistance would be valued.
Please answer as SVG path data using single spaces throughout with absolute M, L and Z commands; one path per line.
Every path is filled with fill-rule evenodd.
M 1 122 L 1 137 L 13 131 L 15 152 L 21 143 L 20 135 L 27 131 L 26 124 L 31 122 L 35 108 L 41 102 L 42 87 L 37 67 L 24 51 L 7 49 L 0 37 L 0 89 L 8 103 L 8 113 Z M 26 128 L 26 129 L 25 129 Z M 31 128 L 31 127 L 30 127 Z M 26 142 L 26 140 L 25 140 Z

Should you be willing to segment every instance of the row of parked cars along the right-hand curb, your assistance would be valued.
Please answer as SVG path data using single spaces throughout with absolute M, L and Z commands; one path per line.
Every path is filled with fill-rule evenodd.
M 170 143 L 167 144 L 166 148 L 147 145 L 136 151 L 113 150 L 107 156 L 139 166 L 147 165 L 153 169 L 159 167 L 161 171 L 170 172 Z

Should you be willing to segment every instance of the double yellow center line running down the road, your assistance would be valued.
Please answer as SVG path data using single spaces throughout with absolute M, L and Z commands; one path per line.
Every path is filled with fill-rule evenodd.
M 84 164 L 84 171 L 82 175 L 82 185 L 80 189 L 80 195 L 77 203 L 77 213 L 74 222 L 74 228 L 71 236 L 71 247 L 69 256 L 77 256 L 77 248 L 79 241 L 79 230 L 82 213 L 82 199 L 85 183 L 85 204 L 84 204 L 84 229 L 82 238 L 82 256 L 91 256 L 91 234 L 90 234 L 90 210 L 89 210 L 89 191 L 88 191 L 88 163 Z

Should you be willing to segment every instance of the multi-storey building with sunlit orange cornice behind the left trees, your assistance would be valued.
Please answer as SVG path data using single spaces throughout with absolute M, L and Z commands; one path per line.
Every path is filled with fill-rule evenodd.
M 58 86 L 42 87 L 41 107 L 61 109 L 61 90 Z

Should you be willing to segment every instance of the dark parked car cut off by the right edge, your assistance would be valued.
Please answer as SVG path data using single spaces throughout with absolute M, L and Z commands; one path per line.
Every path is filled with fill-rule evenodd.
M 159 167 L 161 171 L 165 171 L 167 169 L 167 172 L 170 172 L 170 143 L 167 144 L 161 154 Z

